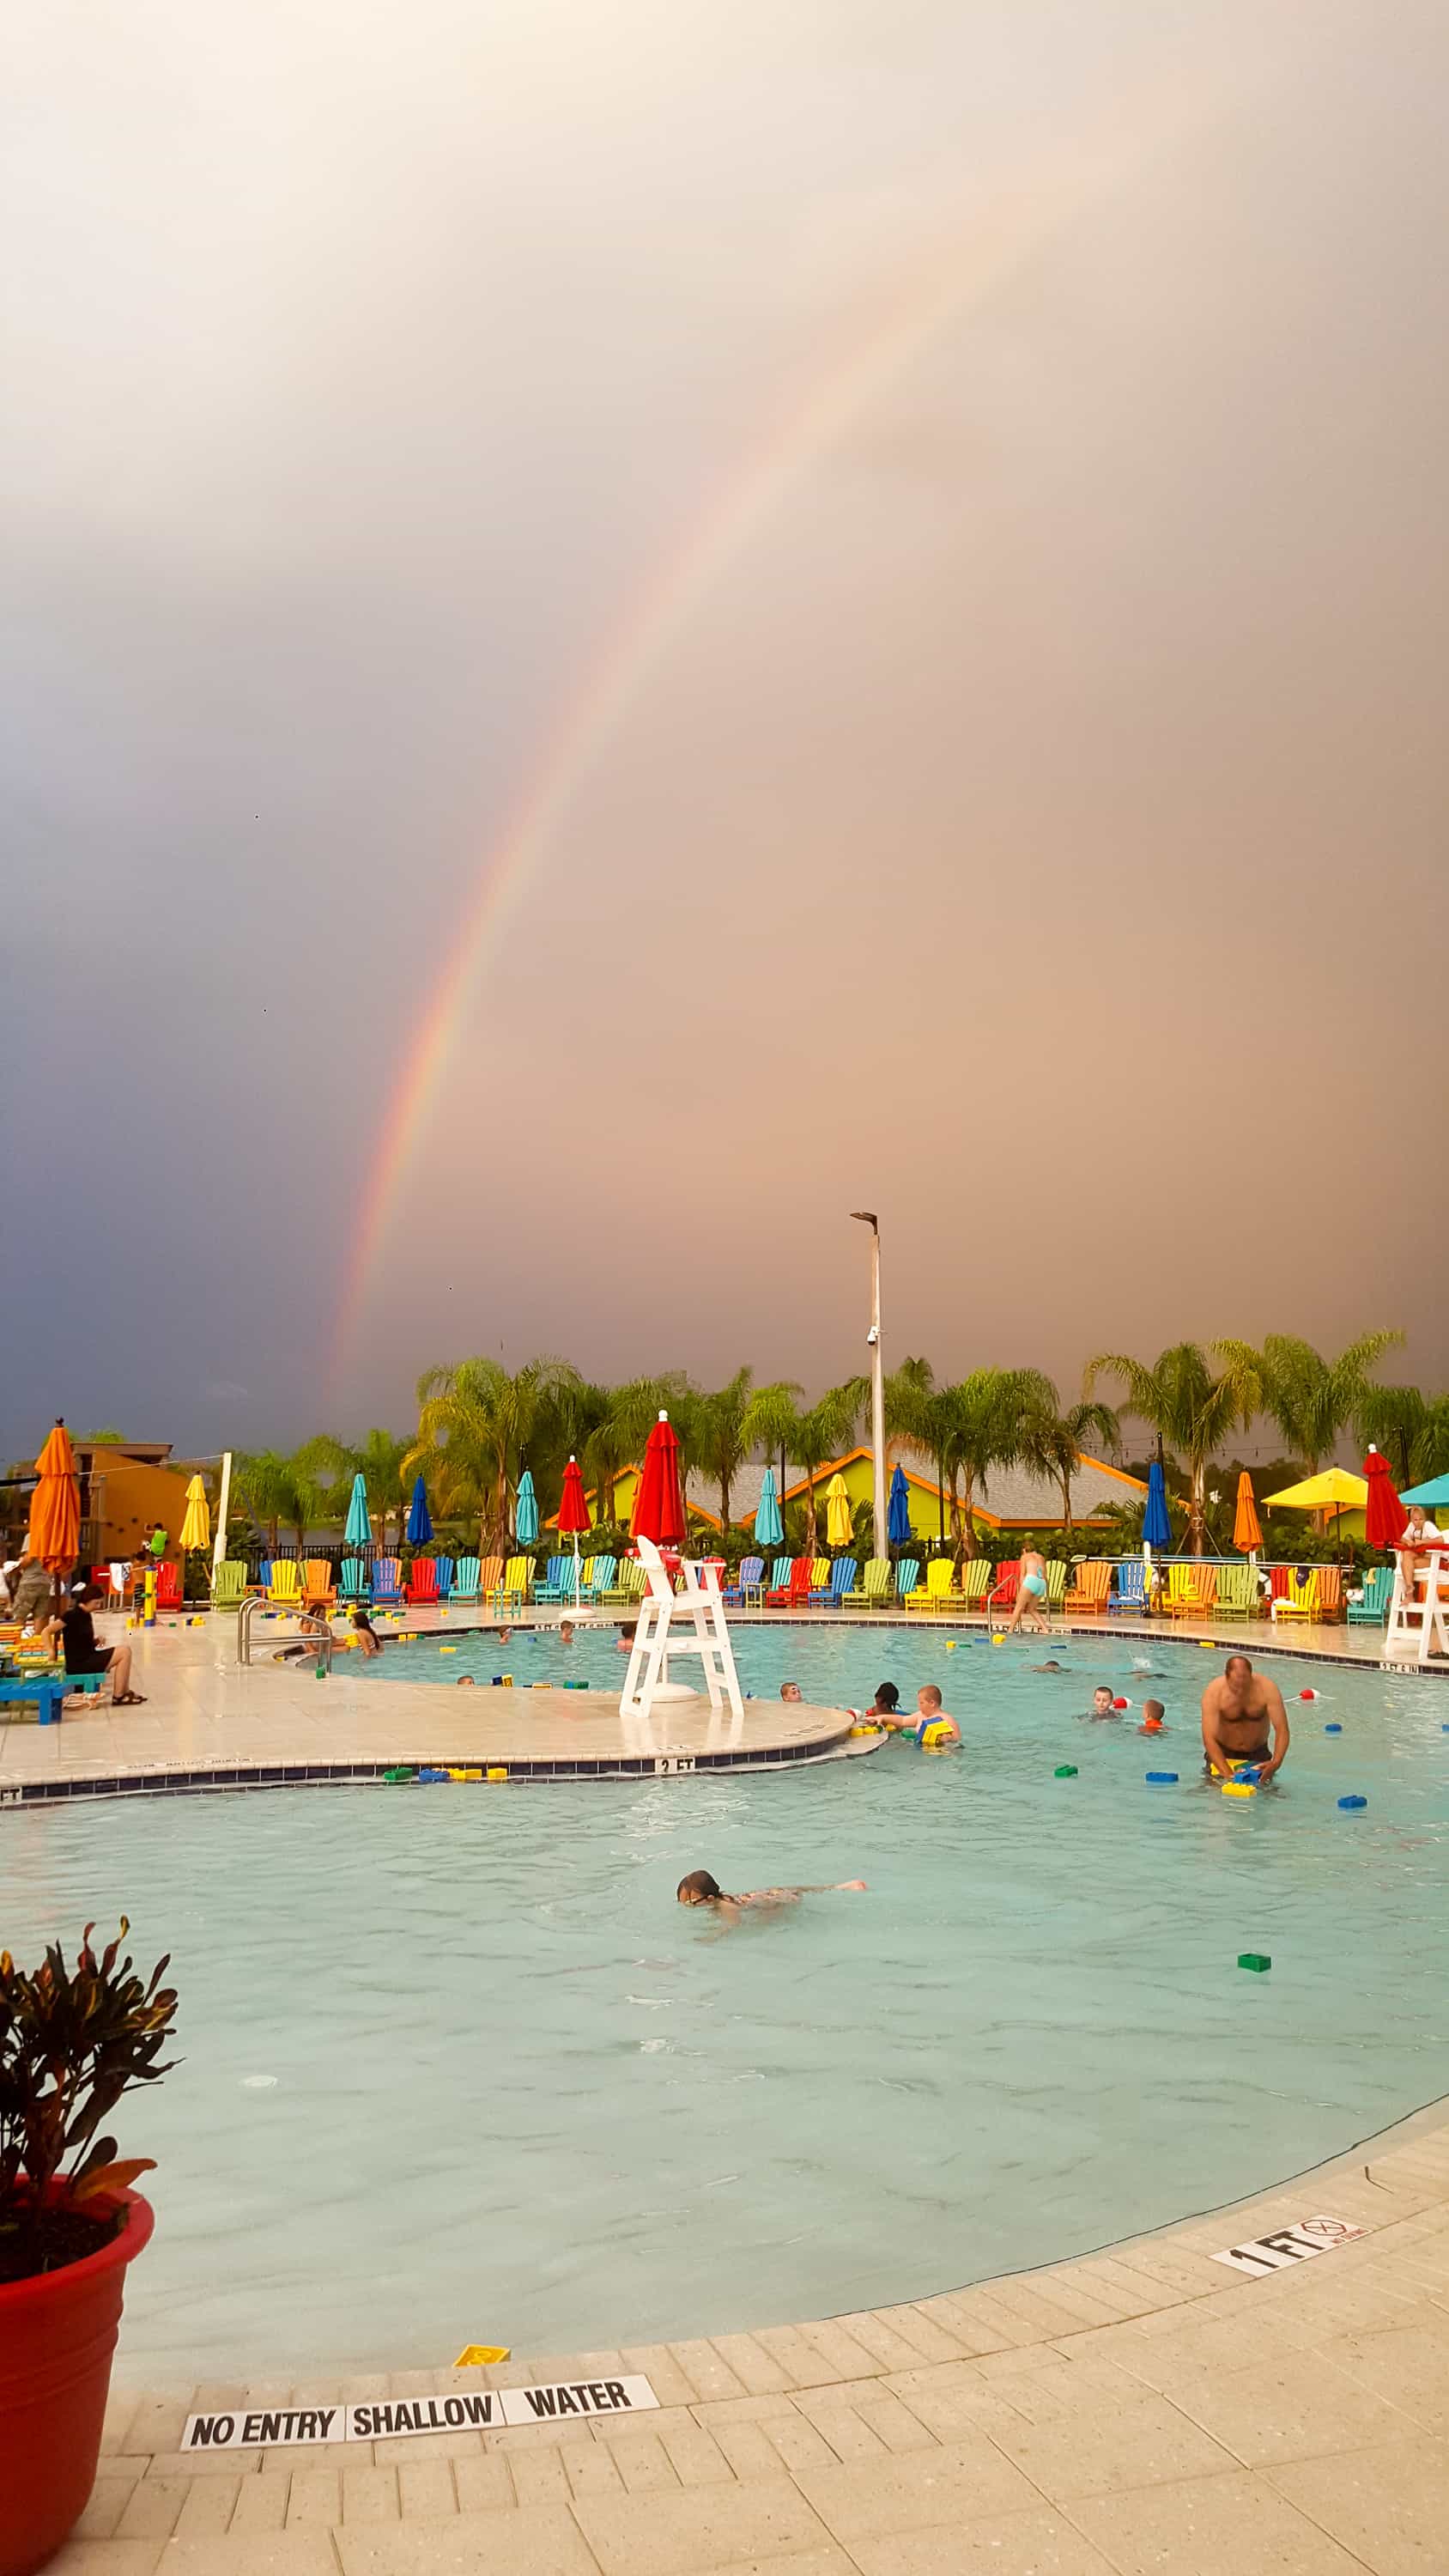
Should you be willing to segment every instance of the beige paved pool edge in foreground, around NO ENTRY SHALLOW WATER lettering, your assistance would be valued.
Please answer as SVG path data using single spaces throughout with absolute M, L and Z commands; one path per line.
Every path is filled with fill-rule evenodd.
M 51 2576 L 1441 2576 L 1449 2125 L 950 2298 L 306 2388 L 116 2391 Z M 1246 2280 L 1307 2215 L 1364 2236 Z M 180 2455 L 203 2406 L 646 2372 L 659 2414 Z

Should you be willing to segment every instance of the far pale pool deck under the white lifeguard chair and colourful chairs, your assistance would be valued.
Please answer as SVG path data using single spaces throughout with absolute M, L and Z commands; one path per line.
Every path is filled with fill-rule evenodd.
M 736 1625 L 782 1628 L 849 1628 L 862 1638 L 885 1625 L 878 1618 L 849 1618 L 849 1613 L 744 1613 Z M 497 1623 L 476 1610 L 453 1615 L 438 1610 L 409 1610 L 407 1633 L 435 1636 L 438 1646 L 458 1636 Z M 602 1615 L 602 1628 L 618 1620 Z M 901 1625 L 901 1623 L 896 1623 Z M 906 1623 L 942 1641 L 973 1636 L 981 1643 L 991 1631 L 983 1620 L 937 1620 L 916 1615 Z M 556 1633 L 558 1613 L 525 1613 L 512 1620 L 520 1631 Z M 118 1620 L 100 1620 L 108 1638 L 124 1636 Z M 252 1631 L 255 1662 L 237 1664 L 237 1623 L 232 1618 L 208 1620 L 203 1628 L 157 1625 L 134 1631 L 136 1649 L 134 1685 L 147 1695 L 144 1708 L 111 1710 L 100 1703 L 95 1713 L 75 1713 L 59 1726 L 33 1721 L 0 1723 L 0 1803 L 18 1793 L 46 1790 L 64 1795 L 67 1785 L 93 1793 L 126 1788 L 226 1788 L 247 1785 L 257 1770 L 291 1780 L 337 1772 L 373 1775 L 378 1765 L 466 1765 L 507 1767 L 510 1780 L 546 1775 L 741 1767 L 780 1759 L 821 1759 L 849 1747 L 849 1718 L 839 1708 L 813 1708 L 808 1703 L 746 1700 L 744 1723 L 734 1726 L 728 1713 L 713 1716 L 708 1700 L 679 1700 L 667 1710 L 656 1708 L 654 1726 L 638 1728 L 620 1718 L 618 1698 L 602 1690 L 538 1690 L 528 1685 L 525 1656 L 517 1662 L 515 1687 L 476 1687 L 445 1692 L 435 1682 L 394 1682 L 386 1672 L 360 1672 L 360 1659 L 340 1654 L 329 1680 L 314 1677 L 311 1662 L 278 1664 L 275 1651 L 296 1636 L 293 1620 L 260 1623 Z M 1256 1662 L 1271 1667 L 1297 1659 L 1320 1659 L 1377 1667 L 1382 1654 L 1380 1628 L 1307 1628 L 1269 1631 L 1266 1623 L 1235 1623 L 1228 1628 L 1199 1628 L 1189 1620 L 1084 1620 L 1058 1623 L 1053 1643 L 1073 1636 L 1109 1636 L 1127 1651 L 1143 1643 L 1215 1641 L 1220 1649 L 1246 1649 Z M 1045 1651 L 1042 1638 L 1017 1638 L 1004 1651 Z M 566 1649 L 558 1649 L 566 1654 Z M 528 1649 L 533 1654 L 533 1649 Z M 499 1646 L 507 1664 L 507 1649 Z M 620 1656 L 620 1680 L 623 1680 Z M 1449 1667 L 1439 1667 L 1428 1680 L 1439 1680 Z M 862 1695 L 865 1674 L 862 1656 Z M 942 1680 L 950 1667 L 942 1662 Z M 854 1749 L 867 1749 L 854 1739 Z M 281 1777 L 275 1785 L 283 1785 Z M 1449 2558 L 1446 2558 L 1449 2566 Z

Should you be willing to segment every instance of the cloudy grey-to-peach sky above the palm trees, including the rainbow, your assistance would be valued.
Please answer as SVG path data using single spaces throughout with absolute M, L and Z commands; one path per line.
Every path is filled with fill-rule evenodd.
M 15 0 L 0 1445 L 1449 1381 L 1449 18 Z

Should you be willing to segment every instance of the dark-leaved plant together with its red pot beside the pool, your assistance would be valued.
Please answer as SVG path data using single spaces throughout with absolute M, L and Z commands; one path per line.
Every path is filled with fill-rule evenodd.
M 59 1945 L 33 1973 L 0 1950 L 0 2576 L 31 2576 L 85 2512 L 126 2264 L 154 2223 L 131 2190 L 154 2159 L 98 2136 L 167 2074 L 167 1960 L 147 1984 L 116 1965 L 129 1929 L 95 1958 L 88 1924 L 75 1968 Z

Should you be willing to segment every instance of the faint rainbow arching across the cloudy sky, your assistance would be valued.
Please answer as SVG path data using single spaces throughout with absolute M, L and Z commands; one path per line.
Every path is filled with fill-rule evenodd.
M 394 1211 L 463 1030 L 468 997 L 515 920 L 553 829 L 638 703 L 685 621 L 808 466 L 942 332 L 983 307 L 1094 198 L 1112 193 L 1127 167 L 1145 157 L 1145 144 L 1156 157 L 1181 139 L 1186 118 L 1202 121 L 1217 100 L 1217 82 L 1204 80 L 1202 72 L 1186 82 L 1179 67 L 1171 98 L 1163 95 L 1161 85 L 1156 88 L 1150 100 L 1156 113 L 1143 113 L 1140 95 L 1120 100 L 1109 129 L 1096 129 L 1071 152 L 1058 149 L 1042 170 L 1032 173 L 1029 183 L 1017 183 L 991 214 L 978 214 L 945 240 L 875 325 L 785 404 L 780 417 L 749 446 L 723 489 L 687 526 L 605 634 L 592 667 L 561 706 L 497 840 L 481 858 L 450 958 L 432 987 L 373 1141 L 368 1182 L 342 1270 L 342 1301 L 332 1337 L 335 1378 L 353 1352 L 368 1309 Z

